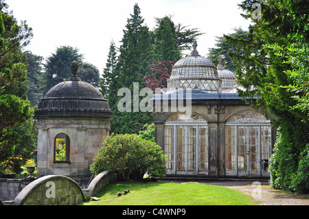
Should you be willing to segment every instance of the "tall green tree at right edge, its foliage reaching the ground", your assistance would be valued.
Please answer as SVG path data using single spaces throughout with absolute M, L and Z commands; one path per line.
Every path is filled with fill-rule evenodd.
M 253 3 L 247 0 L 240 4 L 247 12 L 244 17 L 253 21 L 248 39 L 225 36 L 234 49 L 244 52 L 229 53 L 237 67 L 238 82 L 246 89 L 239 94 L 258 96 L 251 106 L 277 117 L 273 122 L 279 126 L 279 135 L 270 165 L 273 187 L 308 193 L 309 121 L 306 111 L 294 109 L 297 97 L 306 96 L 308 90 L 293 89 L 308 88 L 308 81 L 293 76 L 308 76 L 309 15 L 308 7 L 304 7 L 308 1 L 260 1 L 260 18 L 252 16 L 258 12 Z

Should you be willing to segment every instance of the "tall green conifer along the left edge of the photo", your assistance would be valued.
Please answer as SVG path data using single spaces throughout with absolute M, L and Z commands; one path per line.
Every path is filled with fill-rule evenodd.
M 22 49 L 30 43 L 32 28 L 25 21 L 19 25 L 8 5 L 0 2 L 0 171 L 14 159 L 20 159 L 16 147 L 26 135 L 19 130 L 31 119 L 27 100 L 26 56 Z M 27 148 L 23 144 L 23 149 Z M 13 170 L 14 171 L 14 170 Z

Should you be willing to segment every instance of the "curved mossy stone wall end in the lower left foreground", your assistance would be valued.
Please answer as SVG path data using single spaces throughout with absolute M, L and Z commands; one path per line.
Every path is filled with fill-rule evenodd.
M 67 176 L 43 176 L 27 185 L 15 205 L 77 205 L 84 202 L 82 189 Z

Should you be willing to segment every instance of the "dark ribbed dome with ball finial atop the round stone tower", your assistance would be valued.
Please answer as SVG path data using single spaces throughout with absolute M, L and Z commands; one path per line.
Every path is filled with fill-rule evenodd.
M 108 102 L 93 85 L 76 76 L 78 65 L 72 62 L 72 76 L 56 84 L 38 104 L 34 118 L 98 117 L 109 118 L 113 113 Z

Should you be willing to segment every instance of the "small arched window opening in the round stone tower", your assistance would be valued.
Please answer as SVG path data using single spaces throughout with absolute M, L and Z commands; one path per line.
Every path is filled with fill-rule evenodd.
M 60 133 L 55 137 L 54 143 L 54 161 L 69 161 L 70 138 L 65 133 Z

